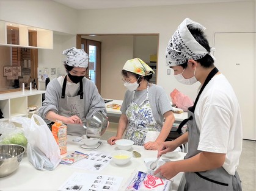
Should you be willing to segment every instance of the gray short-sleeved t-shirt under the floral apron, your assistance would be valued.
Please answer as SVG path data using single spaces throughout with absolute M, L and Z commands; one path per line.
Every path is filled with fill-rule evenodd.
M 131 100 L 134 95 L 134 101 L 137 105 L 141 104 L 147 97 L 147 89 L 142 91 L 126 91 L 125 99 L 123 100 L 123 104 L 120 108 L 122 114 L 125 114 L 126 109 L 131 103 Z M 156 122 L 163 126 L 164 113 L 167 111 L 173 111 L 172 105 L 170 104 L 169 97 L 161 86 L 151 84 L 148 88 L 148 99 L 151 105 L 153 116 Z

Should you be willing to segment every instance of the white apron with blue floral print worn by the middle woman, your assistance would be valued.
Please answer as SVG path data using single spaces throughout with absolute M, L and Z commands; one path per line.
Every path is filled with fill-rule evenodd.
M 135 103 L 133 94 L 133 99 L 125 113 L 128 118 L 125 139 L 134 141 L 135 145 L 143 146 L 147 135 L 149 136 L 149 134 L 153 133 L 153 131 L 157 132 L 156 136 L 152 137 L 152 140 L 147 139 L 147 141 L 155 141 L 156 137 L 161 131 L 161 125 L 156 123 L 152 113 L 151 105 L 148 99 L 148 88 L 149 85 L 147 85 L 147 97 L 140 105 Z

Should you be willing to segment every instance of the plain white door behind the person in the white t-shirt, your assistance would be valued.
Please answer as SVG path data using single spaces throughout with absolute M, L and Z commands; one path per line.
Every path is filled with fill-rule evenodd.
M 229 80 L 238 97 L 243 139 L 256 140 L 256 33 L 215 33 L 215 65 Z

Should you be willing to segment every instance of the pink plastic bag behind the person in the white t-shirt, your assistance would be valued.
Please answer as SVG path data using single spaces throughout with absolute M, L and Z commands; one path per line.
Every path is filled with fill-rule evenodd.
M 186 95 L 174 89 L 170 92 L 170 97 L 172 98 L 172 104 L 176 105 L 177 108 L 183 109 L 183 111 L 188 111 L 188 108 L 194 105 L 194 102 Z

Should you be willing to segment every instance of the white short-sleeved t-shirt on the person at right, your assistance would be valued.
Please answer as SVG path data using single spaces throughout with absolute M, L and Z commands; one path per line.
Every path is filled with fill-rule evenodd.
M 200 130 L 198 150 L 225 153 L 223 167 L 235 175 L 242 151 L 240 106 L 224 75 L 215 75 L 200 95 L 195 109 Z

